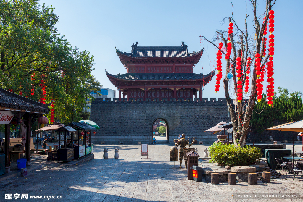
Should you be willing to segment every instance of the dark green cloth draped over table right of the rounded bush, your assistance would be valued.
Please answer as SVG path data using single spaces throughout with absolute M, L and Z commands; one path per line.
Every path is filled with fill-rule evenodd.
M 291 155 L 291 149 L 265 149 L 264 156 L 267 159 L 268 166 L 274 170 L 277 166 L 275 158 L 281 159 L 282 156 Z M 280 169 L 280 167 L 278 167 Z

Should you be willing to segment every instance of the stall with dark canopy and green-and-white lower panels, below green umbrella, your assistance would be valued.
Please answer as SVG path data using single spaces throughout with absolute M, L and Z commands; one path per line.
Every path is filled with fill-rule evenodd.
M 93 153 L 93 144 L 91 144 L 91 132 L 95 131 L 95 127 L 83 122 L 70 123 L 66 126 L 76 130 L 73 137 L 73 147 L 75 151 L 75 159 Z

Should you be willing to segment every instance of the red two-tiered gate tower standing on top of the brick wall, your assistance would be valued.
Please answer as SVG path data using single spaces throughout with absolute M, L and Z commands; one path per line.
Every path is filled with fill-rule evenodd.
M 126 74 L 112 75 L 106 71 L 109 80 L 119 90 L 127 101 L 146 98 L 161 101 L 166 98 L 193 99 L 199 93 L 202 100 L 202 88 L 215 72 L 208 75 L 195 74 L 193 68 L 198 63 L 203 49 L 198 52 L 188 52 L 187 45 L 181 46 L 138 46 L 132 45 L 132 52 L 126 53 L 116 49 Z

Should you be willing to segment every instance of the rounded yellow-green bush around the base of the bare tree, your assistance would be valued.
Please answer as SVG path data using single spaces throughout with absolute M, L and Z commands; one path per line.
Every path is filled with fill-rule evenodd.
M 251 145 L 240 147 L 220 142 L 212 144 L 208 152 L 211 158 L 209 162 L 222 166 L 248 166 L 261 158 L 261 149 Z

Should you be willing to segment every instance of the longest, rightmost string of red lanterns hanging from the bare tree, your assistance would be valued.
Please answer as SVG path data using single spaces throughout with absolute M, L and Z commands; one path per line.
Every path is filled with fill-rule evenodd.
M 268 55 L 270 55 L 270 57 L 268 58 L 269 59 L 269 62 L 267 62 L 266 64 L 267 64 L 267 81 L 268 81 L 268 83 L 269 83 L 269 85 L 267 86 L 267 88 L 268 88 L 268 90 L 267 90 L 267 92 L 268 92 L 268 94 L 267 94 L 267 99 L 268 99 L 268 101 L 267 101 L 267 104 L 269 105 L 269 106 L 271 106 L 271 104 L 272 104 L 272 98 L 273 98 L 273 96 L 274 96 L 274 78 L 272 78 L 272 75 L 274 74 L 274 61 L 273 61 L 273 55 L 275 54 L 275 48 L 274 48 L 274 46 L 275 46 L 275 35 L 273 35 L 272 34 L 272 32 L 275 30 L 274 29 L 274 22 L 275 22 L 275 20 L 274 20 L 274 18 L 275 18 L 275 16 L 274 16 L 274 11 L 273 10 L 270 10 L 269 12 L 268 12 L 268 14 L 269 14 L 269 25 L 268 25 L 268 27 L 269 27 L 269 29 L 268 29 L 268 31 L 271 33 L 271 35 L 269 35 L 268 36 L 268 38 L 269 38 L 269 40 L 268 40 L 268 42 L 269 42 L 269 44 L 268 44 L 268 46 L 269 46 L 269 48 L 268 48 Z

